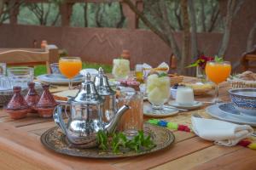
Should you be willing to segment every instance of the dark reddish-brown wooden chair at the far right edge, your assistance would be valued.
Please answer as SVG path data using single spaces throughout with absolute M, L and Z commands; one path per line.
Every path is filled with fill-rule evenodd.
M 242 54 L 241 66 L 243 71 L 256 69 L 256 65 L 252 63 L 256 62 L 256 45 L 253 47 L 253 50 Z

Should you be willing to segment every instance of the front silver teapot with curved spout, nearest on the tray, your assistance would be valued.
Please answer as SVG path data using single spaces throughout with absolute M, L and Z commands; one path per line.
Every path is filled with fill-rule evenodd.
M 121 116 L 129 109 L 128 105 L 123 105 L 110 122 L 103 122 L 104 99 L 98 94 L 94 82 L 90 81 L 89 73 L 85 75 L 85 82 L 82 83 L 79 93 L 67 103 L 71 112 L 67 123 L 62 117 L 63 106 L 67 106 L 65 104 L 55 107 L 53 117 L 55 123 L 66 134 L 68 143 L 82 148 L 95 147 L 96 134 L 100 130 L 113 133 Z

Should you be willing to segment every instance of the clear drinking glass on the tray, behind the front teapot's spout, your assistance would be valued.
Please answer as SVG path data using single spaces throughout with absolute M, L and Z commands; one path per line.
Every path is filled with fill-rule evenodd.
M 143 130 L 143 94 L 136 91 L 120 92 L 118 100 L 119 107 L 129 105 L 131 109 L 121 117 L 117 129 L 128 137 L 133 137 Z

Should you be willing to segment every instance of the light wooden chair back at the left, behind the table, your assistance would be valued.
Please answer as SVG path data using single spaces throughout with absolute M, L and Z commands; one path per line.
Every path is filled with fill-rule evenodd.
M 46 65 L 47 73 L 50 73 L 49 50 L 0 49 L 0 62 L 11 66 Z

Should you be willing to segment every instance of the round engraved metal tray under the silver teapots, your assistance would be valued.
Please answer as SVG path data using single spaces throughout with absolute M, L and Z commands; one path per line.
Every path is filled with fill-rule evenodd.
M 170 146 L 174 142 L 173 133 L 164 128 L 150 125 L 148 123 L 144 124 L 144 132 L 151 133 L 152 139 L 156 146 L 152 150 L 144 150 L 142 152 L 125 152 L 114 154 L 108 151 L 102 151 L 98 148 L 81 149 L 73 148 L 67 144 L 66 136 L 61 132 L 59 127 L 53 127 L 47 130 L 41 136 L 41 142 L 49 150 L 54 150 L 55 152 L 68 155 L 68 156 L 79 156 L 79 157 L 89 157 L 89 158 L 119 158 L 119 157 L 129 157 L 129 156 L 141 156 L 149 153 L 153 153 L 158 150 L 163 150 Z

